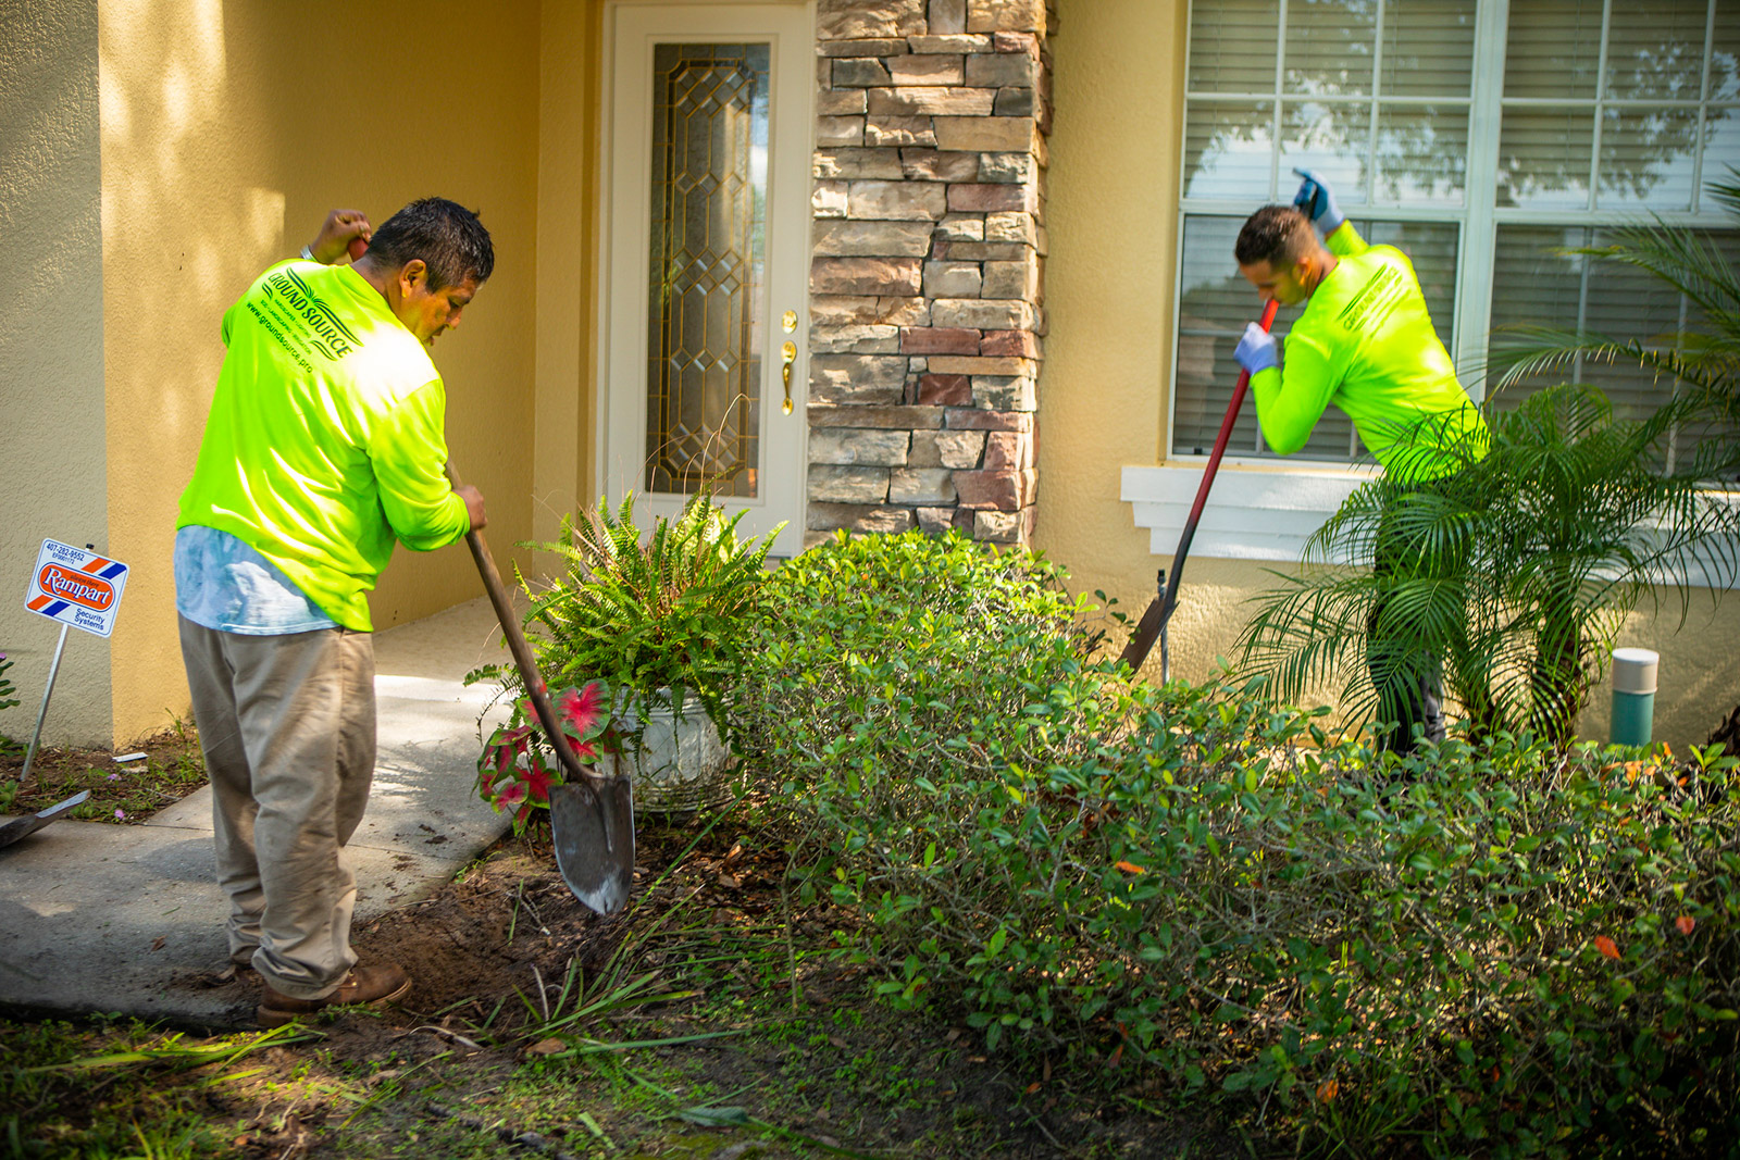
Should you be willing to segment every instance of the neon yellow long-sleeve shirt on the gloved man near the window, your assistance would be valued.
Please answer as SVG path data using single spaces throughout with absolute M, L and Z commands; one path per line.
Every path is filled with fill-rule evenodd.
M 1288 332 L 1282 367 L 1251 376 L 1263 438 L 1293 454 L 1333 403 L 1397 478 L 1449 475 L 1463 463 L 1449 443 L 1484 454 L 1486 421 L 1432 329 L 1413 263 L 1395 247 L 1366 245 L 1352 223 L 1328 245 L 1336 266 Z

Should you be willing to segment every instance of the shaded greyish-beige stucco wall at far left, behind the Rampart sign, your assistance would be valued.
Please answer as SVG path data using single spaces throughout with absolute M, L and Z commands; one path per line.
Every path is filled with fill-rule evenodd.
M 44 539 L 108 548 L 96 0 L 0 3 L 0 652 L 28 739 L 59 628 L 24 610 Z M 130 609 L 129 609 L 130 610 Z M 108 643 L 73 630 L 50 723 L 103 739 Z

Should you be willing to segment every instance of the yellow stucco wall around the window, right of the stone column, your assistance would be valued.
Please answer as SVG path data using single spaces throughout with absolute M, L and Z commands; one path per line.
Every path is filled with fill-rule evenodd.
M 1138 616 L 1171 548 L 1150 555 L 1147 530 L 1119 499 L 1119 471 L 1166 459 L 1187 3 L 1063 0 L 1060 17 L 1037 546 L 1081 591 L 1105 590 Z M 1241 605 L 1267 583 L 1263 565 L 1192 557 L 1169 628 L 1173 673 L 1204 678 L 1218 656 L 1232 656 L 1248 617 Z M 1702 743 L 1740 703 L 1737 642 L 1737 593 L 1712 602 L 1698 590 L 1684 628 L 1672 597 L 1658 614 L 1630 619 L 1622 643 L 1663 657 L 1660 739 Z M 1594 696 L 1583 736 L 1606 736 L 1608 697 Z

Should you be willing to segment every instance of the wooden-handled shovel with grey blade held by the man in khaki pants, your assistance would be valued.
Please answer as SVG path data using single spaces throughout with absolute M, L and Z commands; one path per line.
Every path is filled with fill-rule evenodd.
M 447 478 L 459 487 L 452 464 L 447 466 Z M 501 621 L 513 664 L 520 670 L 525 696 L 567 772 L 567 781 L 550 786 L 550 838 L 557 870 L 574 897 L 600 915 L 611 915 L 628 901 L 628 887 L 635 877 L 633 790 L 626 774 L 604 776 L 583 767 L 574 757 L 484 534 L 466 532 L 465 543 L 477 562 L 477 574 L 484 577 L 489 603 L 496 607 L 496 619 Z

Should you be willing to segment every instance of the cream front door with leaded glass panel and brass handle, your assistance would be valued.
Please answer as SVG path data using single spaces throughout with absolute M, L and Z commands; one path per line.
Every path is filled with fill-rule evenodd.
M 611 9 L 604 487 L 804 541 L 809 5 Z

